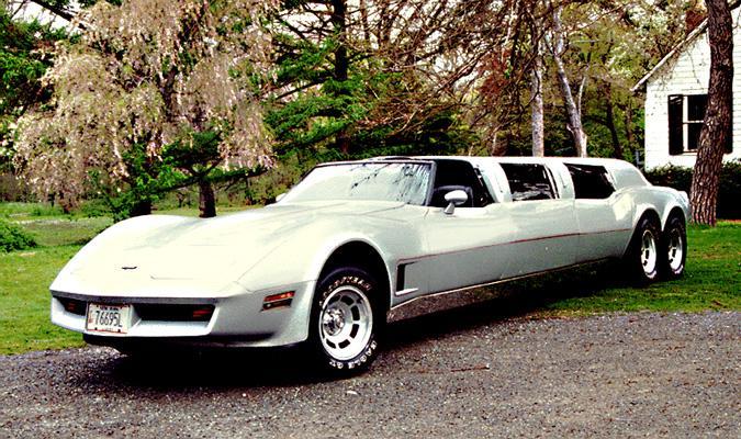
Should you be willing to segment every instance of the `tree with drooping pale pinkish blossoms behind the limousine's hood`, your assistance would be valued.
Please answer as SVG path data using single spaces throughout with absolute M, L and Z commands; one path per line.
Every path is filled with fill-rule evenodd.
M 89 184 L 126 190 L 170 169 L 177 181 L 159 190 L 198 183 L 201 216 L 213 216 L 213 172 L 271 165 L 260 110 L 270 38 L 259 18 L 276 3 L 128 0 L 80 13 L 79 42 L 57 47 L 44 78 L 49 105 L 19 122 L 16 168 L 67 205 Z M 141 196 L 133 213 L 149 209 Z

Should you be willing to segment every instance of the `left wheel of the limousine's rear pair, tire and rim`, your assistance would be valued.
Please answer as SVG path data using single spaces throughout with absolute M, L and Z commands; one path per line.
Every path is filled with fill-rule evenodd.
M 659 226 L 649 217 L 638 222 L 624 259 L 629 274 L 639 285 L 649 284 L 659 278 L 660 237 Z

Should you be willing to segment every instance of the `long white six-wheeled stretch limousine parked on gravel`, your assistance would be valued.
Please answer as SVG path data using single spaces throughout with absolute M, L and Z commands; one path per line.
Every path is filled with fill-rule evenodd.
M 325 164 L 263 209 L 113 225 L 52 284 L 52 322 L 122 351 L 304 344 L 355 372 L 409 301 L 604 259 L 678 277 L 687 217 L 686 193 L 620 160 Z

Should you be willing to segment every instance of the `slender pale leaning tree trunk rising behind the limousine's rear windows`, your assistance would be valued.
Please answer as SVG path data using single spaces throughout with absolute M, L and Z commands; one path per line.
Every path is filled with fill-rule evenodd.
M 563 59 L 561 59 L 561 55 L 565 50 L 563 26 L 561 24 L 561 5 L 553 8 L 553 41 L 551 44 L 551 54 L 553 55 L 553 61 L 555 63 L 559 86 L 561 88 L 561 94 L 563 94 L 563 103 L 566 108 L 566 127 L 574 139 L 576 156 L 586 157 L 586 133 L 584 133 L 582 126 L 582 115 L 574 102 L 574 95 L 571 91 L 571 86 L 569 85 L 569 76 L 566 75 Z

